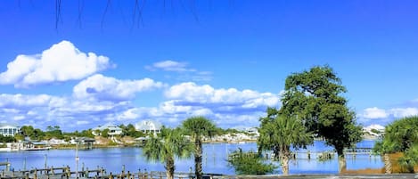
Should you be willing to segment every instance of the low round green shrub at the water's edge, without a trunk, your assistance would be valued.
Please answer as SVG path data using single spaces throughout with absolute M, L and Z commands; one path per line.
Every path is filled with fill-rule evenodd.
M 266 164 L 258 153 L 243 152 L 241 148 L 232 152 L 227 161 L 238 175 L 266 175 L 273 173 L 276 168 L 273 164 Z

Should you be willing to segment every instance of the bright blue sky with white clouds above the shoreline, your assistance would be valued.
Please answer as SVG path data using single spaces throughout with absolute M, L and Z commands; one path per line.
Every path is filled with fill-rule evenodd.
M 107 2 L 0 4 L 1 122 L 258 126 L 288 75 L 325 64 L 359 123 L 418 114 L 416 1 Z

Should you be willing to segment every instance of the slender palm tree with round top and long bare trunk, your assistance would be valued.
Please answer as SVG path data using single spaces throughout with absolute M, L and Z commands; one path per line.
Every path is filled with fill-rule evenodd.
M 190 134 L 194 142 L 194 174 L 197 179 L 202 178 L 201 169 L 201 148 L 202 137 L 211 137 L 216 130 L 216 126 L 207 118 L 192 117 L 183 121 L 183 128 L 186 134 Z

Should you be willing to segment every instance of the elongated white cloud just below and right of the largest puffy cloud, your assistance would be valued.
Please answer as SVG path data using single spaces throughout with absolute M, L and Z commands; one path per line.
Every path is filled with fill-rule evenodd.
M 75 85 L 73 94 L 78 99 L 95 99 L 99 101 L 127 101 L 138 92 L 161 88 L 161 82 L 150 78 L 140 80 L 119 80 L 96 74 Z

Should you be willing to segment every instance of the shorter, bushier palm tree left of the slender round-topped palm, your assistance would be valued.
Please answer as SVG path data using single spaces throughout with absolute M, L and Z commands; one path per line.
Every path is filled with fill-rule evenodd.
M 193 143 L 189 142 L 180 129 L 163 128 L 160 136 L 153 136 L 143 146 L 143 155 L 147 160 L 165 162 L 168 179 L 173 179 L 176 169 L 175 156 L 181 159 L 192 156 Z

